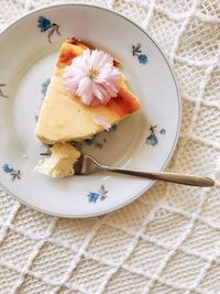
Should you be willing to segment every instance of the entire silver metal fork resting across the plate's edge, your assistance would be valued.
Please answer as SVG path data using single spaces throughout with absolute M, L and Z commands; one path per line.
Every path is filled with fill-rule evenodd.
M 168 173 L 168 172 L 154 172 L 154 171 L 139 171 L 139 170 L 125 170 L 118 167 L 110 167 L 98 163 L 91 156 L 86 154 L 81 155 L 74 165 L 75 174 L 77 175 L 89 175 L 100 171 L 108 171 L 118 174 L 127 174 L 133 176 L 141 176 L 151 179 L 166 181 L 176 184 L 184 184 L 199 187 L 211 187 L 215 182 L 205 176 L 180 174 L 180 173 Z

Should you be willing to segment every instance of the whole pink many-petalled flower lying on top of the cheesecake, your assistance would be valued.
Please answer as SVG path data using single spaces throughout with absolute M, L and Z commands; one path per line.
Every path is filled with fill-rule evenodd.
M 109 54 L 87 48 L 64 68 L 63 79 L 66 89 L 82 104 L 96 106 L 117 97 L 120 76 Z

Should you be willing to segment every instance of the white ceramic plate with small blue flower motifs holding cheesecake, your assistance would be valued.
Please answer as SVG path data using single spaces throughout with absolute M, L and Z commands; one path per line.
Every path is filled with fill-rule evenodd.
M 0 183 L 20 202 L 64 217 L 90 217 L 134 200 L 152 181 L 113 174 L 53 179 L 34 172 L 44 148 L 35 117 L 62 42 L 75 36 L 109 52 L 123 65 L 142 110 L 102 133 L 86 152 L 110 165 L 161 171 L 180 124 L 172 69 L 155 42 L 112 11 L 62 4 L 34 11 L 0 35 Z

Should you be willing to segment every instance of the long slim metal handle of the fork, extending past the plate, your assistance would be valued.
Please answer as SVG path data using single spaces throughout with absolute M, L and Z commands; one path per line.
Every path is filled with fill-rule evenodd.
M 168 173 L 168 172 L 141 172 L 136 170 L 123 170 L 117 167 L 108 167 L 109 172 L 118 174 L 128 174 L 134 176 L 146 177 L 151 179 L 160 179 L 172 182 L 176 184 L 198 186 L 198 187 L 211 187 L 215 185 L 215 182 L 210 177 L 189 175 L 189 174 L 179 174 L 179 173 Z

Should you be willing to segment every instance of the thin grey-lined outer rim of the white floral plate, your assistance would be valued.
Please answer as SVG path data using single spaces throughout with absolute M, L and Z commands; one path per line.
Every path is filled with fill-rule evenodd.
M 156 41 L 143 29 L 141 28 L 141 25 L 136 24 L 134 21 L 130 20 L 129 18 L 124 17 L 123 14 L 119 13 L 116 10 L 111 10 L 101 6 L 96 6 L 96 4 L 88 4 L 88 3 L 58 3 L 58 4 L 50 4 L 50 6 L 44 6 L 43 8 L 38 8 L 38 9 L 34 9 L 30 12 L 24 13 L 23 15 L 19 17 L 18 19 L 15 19 L 14 21 L 10 22 L 6 29 L 3 29 L 3 31 L 0 33 L 0 37 L 7 33 L 8 30 L 10 30 L 10 28 L 12 28 L 13 25 L 16 25 L 19 22 L 21 22 L 23 19 L 28 18 L 29 15 L 35 14 L 37 12 L 47 10 L 50 8 L 59 8 L 59 7 L 87 7 L 87 8 L 94 8 L 94 9 L 99 9 L 99 10 L 103 10 L 107 13 L 112 13 L 112 14 L 117 14 L 118 17 L 129 21 L 130 23 L 132 23 L 134 26 L 136 26 L 139 30 L 141 30 L 150 40 L 151 42 L 154 43 L 154 45 L 157 47 L 157 50 L 160 51 L 160 53 L 162 54 L 162 56 L 164 57 L 168 69 L 173 76 L 174 79 L 174 84 L 175 84 L 175 88 L 176 88 L 176 94 L 177 94 L 177 100 L 178 100 L 178 126 L 177 126 L 177 130 L 176 130 L 176 134 L 175 134 L 175 140 L 173 142 L 172 149 L 169 151 L 169 154 L 165 161 L 165 163 L 163 164 L 163 166 L 160 168 L 160 171 L 164 171 L 167 166 L 167 164 L 169 163 L 174 151 L 176 150 L 176 145 L 179 139 L 179 133 L 180 133 L 180 127 L 182 127 L 182 110 L 183 110 L 183 105 L 182 105 L 182 98 L 180 98 L 180 91 L 179 91 L 179 87 L 177 84 L 177 79 L 176 79 L 176 74 L 174 73 L 173 66 L 169 64 L 168 58 L 166 57 L 166 55 L 164 54 L 163 50 L 161 48 L 161 46 L 156 43 Z M 106 209 L 102 210 L 100 213 L 92 213 L 92 214 L 86 214 L 86 215 L 68 215 L 68 214 L 59 214 L 59 213 L 52 213 L 48 210 L 44 210 L 42 208 L 38 208 L 37 206 L 34 206 L 32 204 L 26 203 L 25 200 L 21 199 L 19 196 L 16 196 L 15 194 L 13 194 L 12 192 L 10 192 L 10 189 L 8 189 L 7 187 L 4 187 L 3 184 L 0 183 L 0 188 L 6 192 L 7 194 L 9 194 L 10 196 L 12 196 L 15 200 L 18 200 L 19 203 L 36 210 L 40 213 L 43 213 L 45 215 L 50 215 L 50 216 L 55 216 L 55 217 L 63 217 L 63 218 L 90 218 L 90 217 L 98 217 L 98 216 L 102 216 L 112 211 L 116 211 L 120 208 L 125 207 L 127 205 L 133 203 L 134 200 L 136 200 L 139 197 L 141 197 L 141 195 L 143 195 L 145 192 L 147 192 L 154 184 L 155 184 L 155 179 L 151 181 L 150 184 L 143 188 L 141 192 L 139 192 L 138 194 L 135 194 L 133 197 L 131 197 L 129 200 L 124 202 L 123 204 L 117 205 L 113 208 L 110 209 Z

